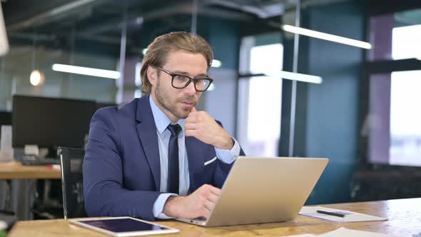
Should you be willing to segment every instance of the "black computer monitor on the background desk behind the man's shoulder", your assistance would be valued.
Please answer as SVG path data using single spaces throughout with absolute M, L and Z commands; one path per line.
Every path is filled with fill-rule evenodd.
M 13 146 L 83 148 L 95 109 L 94 101 L 13 96 Z

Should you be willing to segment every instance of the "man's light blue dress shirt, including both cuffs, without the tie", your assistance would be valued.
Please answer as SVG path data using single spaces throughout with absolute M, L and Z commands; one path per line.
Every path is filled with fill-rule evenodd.
M 155 102 L 152 99 L 152 96 L 149 96 L 149 103 L 151 104 L 153 119 L 155 120 L 156 133 L 158 134 L 158 148 L 159 148 L 159 160 L 161 164 L 161 188 L 159 191 L 166 192 L 168 189 L 168 143 L 170 141 L 171 132 L 168 131 L 167 127 L 171 123 L 171 119 L 166 116 L 166 114 L 161 111 L 161 109 L 156 106 Z M 184 119 L 180 119 L 177 122 L 181 126 L 181 132 L 178 133 L 178 170 L 180 175 L 180 185 L 179 193 L 181 196 L 187 196 L 188 188 L 190 187 L 190 179 L 188 172 L 188 159 L 186 151 L 186 142 L 185 142 L 185 123 Z M 216 157 L 224 163 L 233 163 L 235 158 L 240 155 L 240 145 L 233 138 L 234 146 L 230 150 L 222 150 L 215 148 Z M 165 205 L 167 199 L 170 196 L 178 196 L 176 193 L 162 193 L 156 199 L 153 204 L 153 216 L 156 218 L 171 218 L 166 216 L 163 211 L 163 206 Z

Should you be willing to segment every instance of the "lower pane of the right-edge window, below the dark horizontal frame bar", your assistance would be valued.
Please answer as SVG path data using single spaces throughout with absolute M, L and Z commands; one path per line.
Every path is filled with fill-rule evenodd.
M 421 166 L 421 70 L 370 78 L 369 161 Z

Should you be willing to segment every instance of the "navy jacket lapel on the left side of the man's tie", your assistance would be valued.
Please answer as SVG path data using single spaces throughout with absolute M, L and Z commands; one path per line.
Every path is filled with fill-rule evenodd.
M 136 120 L 139 122 L 136 130 L 141 139 L 143 152 L 148 159 L 156 189 L 159 191 L 161 188 L 161 163 L 159 159 L 158 135 L 156 134 L 151 104 L 149 104 L 149 96 L 143 96 L 138 100 Z

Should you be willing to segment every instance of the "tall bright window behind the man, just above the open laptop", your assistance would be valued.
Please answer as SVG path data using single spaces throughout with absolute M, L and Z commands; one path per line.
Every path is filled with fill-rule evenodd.
M 281 70 L 282 44 L 256 46 L 258 39 L 259 36 L 243 39 L 241 50 L 245 57 L 240 57 L 243 60 L 240 62 L 240 70 L 248 74 Z M 282 79 L 266 76 L 240 79 L 238 139 L 248 156 L 278 155 L 281 95 Z

